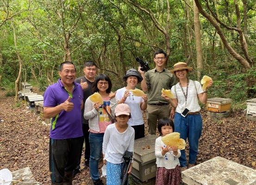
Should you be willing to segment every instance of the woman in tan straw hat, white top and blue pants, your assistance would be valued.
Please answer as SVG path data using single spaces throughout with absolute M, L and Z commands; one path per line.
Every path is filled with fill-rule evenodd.
M 174 117 L 175 132 L 181 134 L 181 138 L 189 142 L 189 160 L 187 166 L 185 150 L 181 150 L 181 157 L 179 158 L 181 164 L 181 171 L 193 167 L 196 162 L 198 154 L 198 144 L 202 133 L 203 121 L 200 115 L 201 103 L 206 104 L 207 88 L 212 86 L 213 81 L 210 80 L 206 90 L 203 91 L 199 81 L 189 80 L 187 74 L 193 68 L 187 66 L 185 62 L 178 62 L 170 71 L 175 74 L 179 81 L 171 88 L 175 98 L 170 99 L 162 94 L 164 99 L 169 100 L 171 105 L 176 108 Z M 188 113 L 187 113 L 188 112 Z

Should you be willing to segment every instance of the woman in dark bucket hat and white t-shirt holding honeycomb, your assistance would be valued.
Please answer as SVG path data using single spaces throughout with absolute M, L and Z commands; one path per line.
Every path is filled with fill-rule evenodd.
M 133 96 L 133 93 L 129 91 L 130 89 L 136 89 L 137 83 L 143 80 L 136 69 L 129 69 L 123 80 L 126 81 L 127 85 L 117 90 L 116 99 L 119 104 L 124 103 L 130 106 L 131 118 L 128 121 L 128 125 L 135 130 L 135 139 L 139 139 L 145 136 L 142 111 L 147 109 L 148 96 L 146 94 L 142 97 Z

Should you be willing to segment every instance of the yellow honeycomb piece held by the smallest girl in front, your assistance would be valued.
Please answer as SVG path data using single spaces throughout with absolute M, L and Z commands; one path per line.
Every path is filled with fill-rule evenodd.
M 185 149 L 186 142 L 184 139 L 180 139 L 180 133 L 173 132 L 163 136 L 162 142 L 169 146 L 176 146 L 178 149 L 183 150 Z

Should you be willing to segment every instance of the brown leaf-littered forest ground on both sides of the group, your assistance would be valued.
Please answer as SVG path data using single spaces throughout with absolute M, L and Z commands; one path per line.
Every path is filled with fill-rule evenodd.
M 49 125 L 24 105 L 16 107 L 14 98 L 4 94 L 0 92 L 0 169 L 30 166 L 37 181 L 50 185 Z M 204 109 L 201 113 L 204 128 L 198 163 L 221 156 L 256 169 L 256 122 L 245 120 L 243 111 L 232 110 L 228 118 L 207 117 Z M 73 184 L 92 185 L 88 168 L 82 164 Z

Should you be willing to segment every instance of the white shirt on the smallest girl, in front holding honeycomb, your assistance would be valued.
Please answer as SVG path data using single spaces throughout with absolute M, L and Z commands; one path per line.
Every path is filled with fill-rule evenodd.
M 157 167 L 165 167 L 166 169 L 174 169 L 177 165 L 180 165 L 179 157 L 181 156 L 181 150 L 178 150 L 178 154 L 174 155 L 173 151 L 167 152 L 162 156 L 162 147 L 165 144 L 161 140 L 162 136 L 156 138 L 155 154 Z

